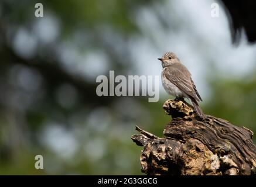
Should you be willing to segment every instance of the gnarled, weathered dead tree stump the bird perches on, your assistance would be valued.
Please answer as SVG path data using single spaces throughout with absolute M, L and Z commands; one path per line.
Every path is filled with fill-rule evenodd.
M 252 131 L 226 120 L 195 116 L 185 101 L 168 100 L 163 109 L 172 120 L 160 138 L 136 127 L 132 140 L 143 146 L 141 171 L 148 175 L 255 175 Z

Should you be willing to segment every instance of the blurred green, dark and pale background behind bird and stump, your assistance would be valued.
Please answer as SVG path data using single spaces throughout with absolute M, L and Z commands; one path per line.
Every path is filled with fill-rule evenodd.
M 36 18 L 36 3 L 0 2 L 0 174 L 142 174 L 131 135 L 138 125 L 162 136 L 172 97 L 161 84 L 156 103 L 98 97 L 95 79 L 160 75 L 166 51 L 192 72 L 204 113 L 256 131 L 255 32 L 243 5 L 232 17 L 225 1 L 54 0 Z

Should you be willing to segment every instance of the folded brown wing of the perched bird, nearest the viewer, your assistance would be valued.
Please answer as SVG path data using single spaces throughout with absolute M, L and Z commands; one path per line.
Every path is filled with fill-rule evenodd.
M 180 71 L 176 67 L 168 67 L 163 74 L 165 77 L 172 82 L 172 84 L 176 85 L 182 92 L 186 93 L 188 96 L 200 101 L 200 98 L 196 94 L 196 90 L 194 89 L 194 84 L 192 83 L 192 79 L 189 71 L 186 68 L 181 67 L 183 70 Z

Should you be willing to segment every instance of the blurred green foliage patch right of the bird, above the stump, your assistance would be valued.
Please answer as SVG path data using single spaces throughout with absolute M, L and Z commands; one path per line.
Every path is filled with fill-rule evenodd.
M 206 112 L 255 131 L 255 73 L 240 79 L 212 78 L 209 83 L 212 89 L 209 103 L 205 105 Z

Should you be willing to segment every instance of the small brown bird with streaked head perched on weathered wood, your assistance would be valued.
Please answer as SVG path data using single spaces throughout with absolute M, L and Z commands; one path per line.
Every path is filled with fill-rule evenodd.
M 158 60 L 162 61 L 162 84 L 165 91 L 175 96 L 175 99 L 190 99 L 197 115 L 203 118 L 203 111 L 198 105 L 198 102 L 203 100 L 197 92 L 189 70 L 180 63 L 179 58 L 172 52 L 165 53 Z

